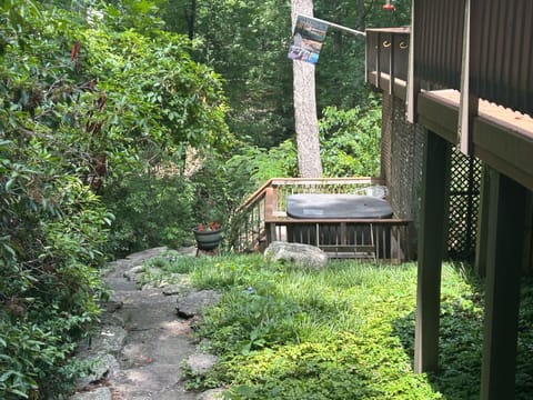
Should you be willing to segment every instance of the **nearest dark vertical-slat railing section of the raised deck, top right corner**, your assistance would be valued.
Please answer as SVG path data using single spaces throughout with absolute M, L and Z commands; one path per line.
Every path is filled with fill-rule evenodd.
M 413 31 L 415 79 L 461 90 L 466 71 L 471 96 L 533 114 L 531 0 L 415 0 Z

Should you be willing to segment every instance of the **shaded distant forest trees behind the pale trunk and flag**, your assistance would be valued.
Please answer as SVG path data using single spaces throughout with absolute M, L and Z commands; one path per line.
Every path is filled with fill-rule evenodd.
M 191 6 L 195 3 L 195 8 Z M 353 29 L 409 23 L 409 0 L 398 0 L 394 13 L 381 0 L 314 0 L 318 18 Z M 187 32 L 185 16 L 195 9 L 197 59 L 225 79 L 231 111 L 228 123 L 241 138 L 273 146 L 294 133 L 289 0 L 165 0 L 168 29 Z M 365 106 L 364 39 L 331 29 L 316 66 L 319 117 L 326 107 Z

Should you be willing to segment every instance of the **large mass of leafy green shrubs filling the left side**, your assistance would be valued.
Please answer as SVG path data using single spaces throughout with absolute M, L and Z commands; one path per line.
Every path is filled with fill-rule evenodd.
M 98 321 L 113 221 L 95 193 L 134 189 L 117 227 L 130 234 L 125 212 L 148 210 L 144 243 L 175 243 L 183 226 L 171 221 L 189 224 L 192 190 L 162 160 L 177 154 L 179 170 L 181 149 L 232 141 L 220 79 L 189 42 L 150 16 L 130 29 L 142 16 L 122 7 L 150 2 L 107 9 L 108 24 L 86 4 L 0 1 L 0 398 L 60 398 L 80 372 L 70 356 Z M 158 179 L 134 177 L 144 170 Z

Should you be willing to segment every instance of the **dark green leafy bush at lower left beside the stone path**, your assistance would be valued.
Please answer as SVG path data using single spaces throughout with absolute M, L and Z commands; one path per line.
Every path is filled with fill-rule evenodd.
M 77 371 L 69 356 L 99 314 L 110 216 L 78 179 L 56 176 L 51 154 L 40 152 L 46 162 L 33 150 L 0 143 L 2 398 L 67 389 Z

